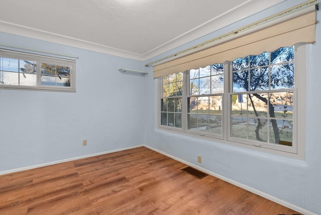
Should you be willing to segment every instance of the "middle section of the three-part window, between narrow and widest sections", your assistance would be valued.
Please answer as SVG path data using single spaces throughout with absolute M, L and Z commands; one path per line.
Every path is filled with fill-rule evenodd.
M 222 136 L 223 64 L 191 69 L 187 76 L 187 132 Z

